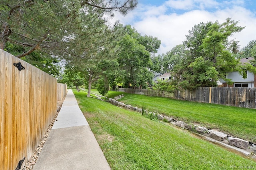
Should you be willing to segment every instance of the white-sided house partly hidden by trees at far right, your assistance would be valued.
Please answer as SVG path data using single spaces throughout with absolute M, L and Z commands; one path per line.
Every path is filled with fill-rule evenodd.
M 242 58 L 240 59 L 240 62 L 242 64 L 250 63 L 250 60 L 253 59 L 253 57 Z M 243 76 L 240 75 L 238 71 L 227 73 L 226 78 L 231 79 L 233 84 L 228 84 L 226 81 L 220 80 L 222 87 L 256 87 L 256 82 L 254 83 L 254 80 L 256 80 L 256 75 L 249 72 L 248 70 L 246 70 L 245 78 L 243 78 Z

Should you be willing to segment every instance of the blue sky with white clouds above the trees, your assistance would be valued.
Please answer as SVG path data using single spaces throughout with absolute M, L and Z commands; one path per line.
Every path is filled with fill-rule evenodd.
M 217 20 L 223 23 L 226 18 L 245 26 L 230 38 L 240 41 L 240 48 L 256 40 L 256 0 L 138 0 L 134 10 L 126 16 L 116 13 L 111 22 L 119 20 L 142 36 L 157 37 L 162 42 L 158 54 L 162 54 L 182 44 L 194 25 Z

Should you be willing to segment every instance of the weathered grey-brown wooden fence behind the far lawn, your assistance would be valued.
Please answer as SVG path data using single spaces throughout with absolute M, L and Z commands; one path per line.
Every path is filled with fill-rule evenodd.
M 243 87 L 198 87 L 194 90 L 174 92 L 150 89 L 124 89 L 118 91 L 170 99 L 214 103 L 246 108 L 256 108 L 256 88 Z

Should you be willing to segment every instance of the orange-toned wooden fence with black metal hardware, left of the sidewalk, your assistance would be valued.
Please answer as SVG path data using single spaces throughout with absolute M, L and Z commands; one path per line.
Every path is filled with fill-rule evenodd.
M 22 66 L 14 66 L 19 62 Z M 56 103 L 54 77 L 0 49 L 1 170 L 15 170 L 24 157 L 27 162 L 56 114 Z

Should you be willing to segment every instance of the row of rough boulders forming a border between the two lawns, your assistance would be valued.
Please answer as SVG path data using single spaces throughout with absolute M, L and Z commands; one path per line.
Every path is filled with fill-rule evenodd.
M 96 95 L 96 96 L 97 96 L 98 99 L 101 99 L 101 97 L 103 97 L 101 95 Z M 142 113 L 141 108 L 133 107 L 131 105 L 126 105 L 122 102 L 117 101 L 118 99 L 121 99 L 122 97 L 124 97 L 123 94 L 114 97 L 114 99 L 109 98 L 108 101 L 111 104 L 126 107 L 127 109 L 131 109 L 133 111 L 138 111 L 138 112 Z M 145 111 L 145 112 L 147 113 L 147 111 Z M 152 112 L 149 112 L 149 113 L 152 113 Z M 210 137 L 214 140 L 220 141 L 224 145 L 228 144 L 230 146 L 235 146 L 237 148 L 248 150 L 247 153 L 254 153 L 254 157 L 256 156 L 255 155 L 256 154 L 256 144 L 253 144 L 252 142 L 249 142 L 249 141 L 246 141 L 246 140 L 243 140 L 243 139 L 240 139 L 240 138 L 234 138 L 232 136 L 229 136 L 228 134 L 218 132 L 218 131 L 215 131 L 215 130 L 210 130 L 210 129 L 207 129 L 206 127 L 200 127 L 198 125 L 189 125 L 189 124 L 184 123 L 182 121 L 175 120 L 172 117 L 166 117 L 166 116 L 156 114 L 156 113 L 153 113 L 153 114 L 156 115 L 159 120 L 165 120 L 166 122 L 172 123 L 173 125 L 176 125 L 178 127 L 185 128 L 187 130 L 197 132 L 201 135 L 204 135 L 204 136 Z M 242 153 L 245 154 L 245 152 L 242 152 Z M 249 155 L 246 154 L 246 156 L 249 156 Z

